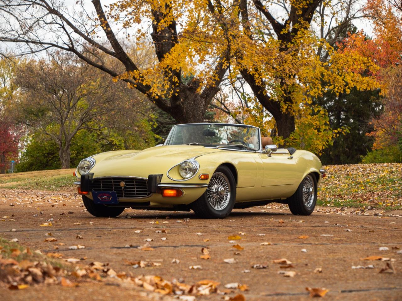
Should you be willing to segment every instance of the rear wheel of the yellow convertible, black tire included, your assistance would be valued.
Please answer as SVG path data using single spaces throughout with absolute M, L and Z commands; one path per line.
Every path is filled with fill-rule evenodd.
M 314 174 L 306 175 L 296 192 L 287 200 L 292 214 L 312 214 L 317 202 L 317 179 Z

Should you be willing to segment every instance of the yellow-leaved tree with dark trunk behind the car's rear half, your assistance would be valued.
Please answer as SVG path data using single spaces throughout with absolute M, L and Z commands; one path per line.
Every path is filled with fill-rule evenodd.
M 273 116 L 281 144 L 306 146 L 320 139 L 328 145 L 332 140 L 328 116 L 312 100 L 328 88 L 338 93 L 351 87 L 375 87 L 373 80 L 359 74 L 361 69 L 375 68 L 369 59 L 357 54 L 347 57 L 333 48 L 343 28 L 357 18 L 351 9 L 355 2 L 345 2 L 343 15 L 338 16 L 330 2 L 320 0 L 241 2 L 237 69 Z M 324 9 L 339 17 L 338 22 L 327 24 Z M 319 33 L 312 28 L 314 22 Z M 314 136 L 306 136 L 309 132 Z M 319 152 L 322 147 L 313 149 Z

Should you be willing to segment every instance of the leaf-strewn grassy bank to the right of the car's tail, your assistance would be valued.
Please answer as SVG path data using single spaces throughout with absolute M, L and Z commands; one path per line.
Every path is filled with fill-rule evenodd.
M 402 164 L 328 165 L 318 205 L 364 209 L 402 208 Z

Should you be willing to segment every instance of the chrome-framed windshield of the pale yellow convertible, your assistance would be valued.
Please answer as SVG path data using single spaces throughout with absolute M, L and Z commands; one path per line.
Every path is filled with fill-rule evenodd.
M 165 145 L 203 144 L 206 147 L 231 147 L 259 150 L 258 128 L 227 124 L 180 124 L 170 130 Z

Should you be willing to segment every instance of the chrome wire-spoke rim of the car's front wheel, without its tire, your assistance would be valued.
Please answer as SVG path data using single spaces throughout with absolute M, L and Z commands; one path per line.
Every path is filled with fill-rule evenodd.
M 207 187 L 207 199 L 215 210 L 223 210 L 230 201 L 230 181 L 224 173 L 216 172 Z

